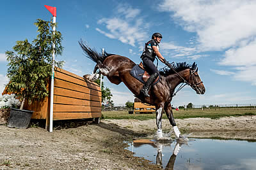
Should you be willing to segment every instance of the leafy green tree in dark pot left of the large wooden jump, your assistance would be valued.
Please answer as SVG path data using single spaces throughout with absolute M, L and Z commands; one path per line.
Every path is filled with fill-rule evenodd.
M 49 95 L 47 84 L 51 78 L 52 52 L 61 55 L 61 32 L 50 31 L 52 22 L 41 19 L 34 23 L 38 35 L 29 43 L 28 39 L 16 41 L 13 51 L 6 51 L 8 61 L 7 76 L 10 79 L 8 92 L 14 92 L 19 97 L 23 108 L 24 100 L 29 104 L 35 100 L 42 100 Z M 55 43 L 53 48 L 52 43 Z M 63 62 L 55 62 L 60 67 Z

